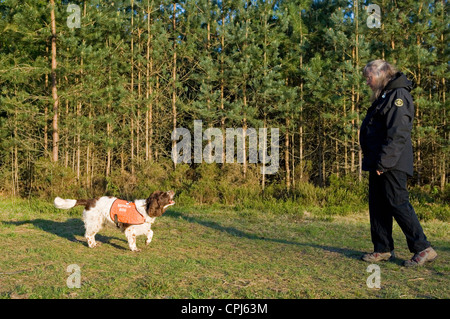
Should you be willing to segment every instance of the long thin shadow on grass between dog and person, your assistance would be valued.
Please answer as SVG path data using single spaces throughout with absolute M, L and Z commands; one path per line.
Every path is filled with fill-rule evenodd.
M 328 252 L 334 252 L 334 253 L 341 254 L 347 258 L 358 259 L 358 260 L 361 259 L 362 252 L 357 251 L 357 250 L 351 250 L 351 249 L 340 248 L 340 247 L 332 247 L 332 246 L 314 244 L 314 243 L 301 243 L 301 242 L 280 239 L 280 238 L 267 238 L 267 237 L 258 236 L 258 235 L 252 234 L 252 233 L 248 233 L 248 232 L 239 230 L 235 227 L 222 226 L 219 223 L 214 222 L 214 221 L 205 221 L 205 220 L 201 220 L 201 219 L 198 219 L 195 217 L 186 216 L 180 212 L 176 212 L 173 210 L 167 211 L 164 214 L 164 216 L 171 217 L 171 218 L 180 218 L 189 223 L 195 223 L 195 224 L 199 224 L 199 225 L 202 225 L 205 227 L 209 227 L 209 228 L 221 231 L 221 232 L 225 232 L 225 233 L 235 236 L 235 237 L 247 238 L 247 239 L 252 239 L 252 240 L 270 241 L 270 242 L 275 242 L 275 243 L 280 243 L 280 244 L 296 245 L 296 246 L 300 246 L 300 247 L 319 248 L 319 249 L 323 249 Z

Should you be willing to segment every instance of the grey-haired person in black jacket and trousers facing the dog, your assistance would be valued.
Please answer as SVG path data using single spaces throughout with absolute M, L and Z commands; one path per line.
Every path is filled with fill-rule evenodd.
M 414 105 L 412 82 L 383 60 L 369 62 L 363 71 L 372 89 L 372 106 L 361 125 L 362 169 L 369 171 L 369 213 L 374 252 L 367 262 L 394 257 L 393 218 L 414 256 L 404 266 L 421 266 L 437 257 L 409 202 L 407 177 L 413 175 L 411 142 Z

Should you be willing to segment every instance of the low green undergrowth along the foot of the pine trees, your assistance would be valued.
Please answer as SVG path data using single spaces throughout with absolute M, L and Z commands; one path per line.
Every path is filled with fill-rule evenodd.
M 320 216 L 348 215 L 368 210 L 368 180 L 357 176 L 332 175 L 328 186 L 297 182 L 289 191 L 282 180 L 271 176 L 261 188 L 259 167 L 249 165 L 244 178 L 240 164 L 179 164 L 170 160 L 137 166 L 132 175 L 127 171 L 113 171 L 104 177 L 96 172 L 86 186 L 86 176 L 77 179 L 67 167 L 39 160 L 34 163 L 33 179 L 28 188 L 22 187 L 23 197 L 52 200 L 55 196 L 92 198 L 103 195 L 127 200 L 146 198 L 155 190 L 174 190 L 181 206 L 226 205 L 239 212 L 266 212 L 302 216 L 304 211 Z M 0 184 L 0 191 L 8 188 Z M 448 199 L 450 186 L 444 191 L 431 186 L 411 188 L 411 203 L 422 220 L 437 218 L 450 220 Z

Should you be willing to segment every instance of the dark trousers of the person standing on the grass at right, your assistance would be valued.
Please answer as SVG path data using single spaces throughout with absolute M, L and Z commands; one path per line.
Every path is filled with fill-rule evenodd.
M 405 172 L 392 170 L 381 175 L 370 172 L 369 213 L 374 252 L 384 253 L 394 250 L 393 218 L 405 234 L 408 248 L 412 253 L 418 253 L 431 246 L 409 202 L 406 182 Z

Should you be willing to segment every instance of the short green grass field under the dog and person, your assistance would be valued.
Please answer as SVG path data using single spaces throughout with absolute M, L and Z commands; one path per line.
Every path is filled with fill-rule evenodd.
M 299 211 L 174 206 L 154 224 L 141 252 L 104 228 L 90 249 L 81 208 L 0 200 L 1 298 L 450 298 L 449 224 L 423 222 L 439 254 L 425 267 L 401 266 L 411 257 L 394 223 L 397 259 L 381 263 L 381 289 L 368 288 L 371 251 L 367 214 L 324 218 Z M 69 265 L 81 288 L 69 288 Z

